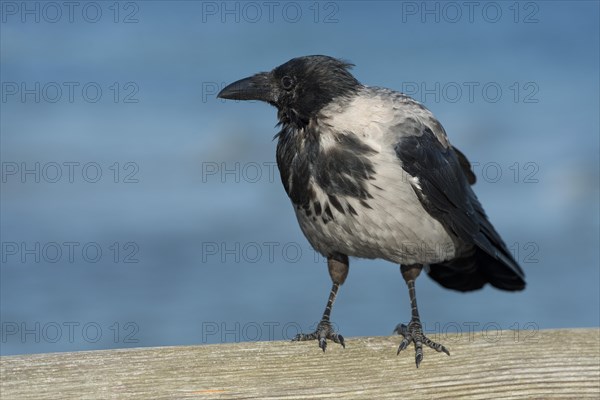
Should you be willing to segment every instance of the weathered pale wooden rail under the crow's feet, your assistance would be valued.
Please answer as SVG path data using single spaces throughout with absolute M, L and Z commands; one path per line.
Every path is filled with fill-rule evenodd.
M 432 337 L 433 338 L 433 337 Z M 600 330 L 503 331 L 436 339 L 451 356 L 395 337 L 251 342 L 8 356 L 2 399 L 600 398 Z

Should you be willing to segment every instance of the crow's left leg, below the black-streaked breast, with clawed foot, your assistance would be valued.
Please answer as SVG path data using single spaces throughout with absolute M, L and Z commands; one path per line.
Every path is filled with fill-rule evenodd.
M 346 347 L 344 337 L 335 333 L 333 330 L 331 322 L 329 322 L 329 315 L 331 314 L 331 308 L 333 307 L 337 291 L 348 276 L 348 256 L 336 254 L 335 256 L 327 257 L 327 267 L 329 269 L 329 276 L 331 276 L 331 280 L 333 281 L 333 286 L 331 286 L 331 292 L 329 293 L 329 300 L 327 300 L 325 312 L 323 312 L 323 318 L 321 318 L 321 322 L 317 325 L 316 331 L 308 334 L 299 333 L 292 339 L 293 341 L 318 340 L 319 347 L 323 349 L 323 351 L 327 348 L 327 339 L 331 339 L 335 343 L 341 344 L 344 348 Z

